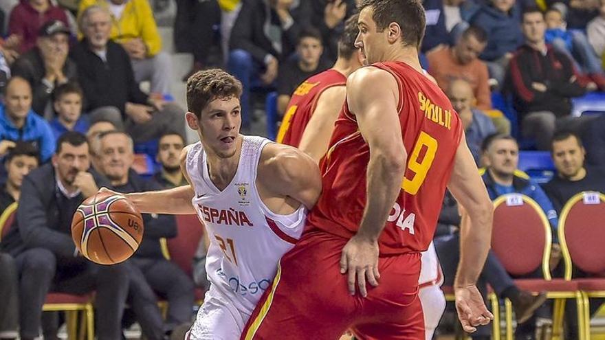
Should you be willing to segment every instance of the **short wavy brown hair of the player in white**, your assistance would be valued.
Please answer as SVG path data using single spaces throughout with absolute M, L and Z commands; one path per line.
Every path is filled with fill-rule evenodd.
M 241 82 L 222 69 L 197 71 L 187 80 L 187 110 L 198 119 L 212 100 L 240 96 Z

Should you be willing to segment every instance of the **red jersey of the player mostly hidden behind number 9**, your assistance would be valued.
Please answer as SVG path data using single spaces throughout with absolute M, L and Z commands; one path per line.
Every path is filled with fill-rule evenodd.
M 277 142 L 287 144 L 298 148 L 300 139 L 311 115 L 315 111 L 315 106 L 319 96 L 333 86 L 342 86 L 347 82 L 344 74 L 328 69 L 308 78 L 300 84 L 292 94 L 283 121 L 277 134 Z

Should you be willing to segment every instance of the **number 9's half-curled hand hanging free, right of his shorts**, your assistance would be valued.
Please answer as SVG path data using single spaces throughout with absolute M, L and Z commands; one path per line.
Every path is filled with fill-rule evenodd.
M 476 326 L 487 325 L 494 319 L 476 286 L 454 287 L 454 293 L 458 319 L 465 332 L 472 333 L 477 330 Z

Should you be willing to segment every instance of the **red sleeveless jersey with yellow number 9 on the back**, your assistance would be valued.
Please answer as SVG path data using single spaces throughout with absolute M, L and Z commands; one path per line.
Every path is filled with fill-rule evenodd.
M 379 239 L 380 253 L 424 251 L 434 234 L 463 126 L 450 100 L 423 74 L 399 62 L 372 66 L 397 80 L 397 110 L 408 153 L 399 196 Z M 307 229 L 345 238 L 357 232 L 366 205 L 369 160 L 369 146 L 345 102 L 322 162 L 322 195 L 307 217 Z

